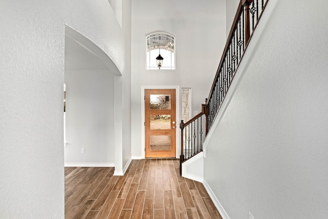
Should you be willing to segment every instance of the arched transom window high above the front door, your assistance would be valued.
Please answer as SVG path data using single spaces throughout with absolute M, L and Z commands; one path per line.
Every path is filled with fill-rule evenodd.
M 155 32 L 146 36 L 147 68 L 159 69 L 156 57 L 163 57 L 160 69 L 175 69 L 174 35 L 166 32 Z

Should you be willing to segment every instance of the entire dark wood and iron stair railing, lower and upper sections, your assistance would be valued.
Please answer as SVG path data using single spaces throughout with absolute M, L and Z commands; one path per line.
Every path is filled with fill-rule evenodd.
M 240 0 L 206 104 L 202 104 L 202 112 L 187 123 L 181 120 L 180 174 L 182 162 L 202 151 L 205 135 L 214 122 L 268 1 Z M 201 125 L 198 125 L 199 120 Z M 202 125 L 204 120 L 205 128 Z M 205 135 L 203 135 L 204 130 Z

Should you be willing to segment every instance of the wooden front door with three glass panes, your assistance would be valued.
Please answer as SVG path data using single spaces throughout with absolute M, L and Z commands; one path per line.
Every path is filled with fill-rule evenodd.
M 175 89 L 145 90 L 146 157 L 175 157 Z

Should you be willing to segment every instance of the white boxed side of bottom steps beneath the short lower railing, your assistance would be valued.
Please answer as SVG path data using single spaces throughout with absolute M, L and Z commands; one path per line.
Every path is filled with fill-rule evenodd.
M 181 176 L 197 182 L 203 182 L 204 153 L 201 151 L 182 163 Z

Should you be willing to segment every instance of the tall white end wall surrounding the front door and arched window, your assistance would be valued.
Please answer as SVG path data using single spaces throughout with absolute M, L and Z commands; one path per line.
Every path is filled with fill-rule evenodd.
M 141 86 L 192 89 L 192 112 L 208 97 L 226 43 L 226 1 L 142 0 L 132 4 L 132 155 L 141 156 Z M 159 7 L 160 6 L 160 7 Z M 146 35 L 175 34 L 176 70 L 146 70 Z M 165 60 L 164 60 L 165 62 Z M 181 92 L 180 92 L 181 93 Z M 180 97 L 181 99 L 181 97 Z M 181 105 L 181 103 L 179 103 Z M 181 109 L 181 106 L 180 106 Z M 181 112 L 177 115 L 177 122 Z

